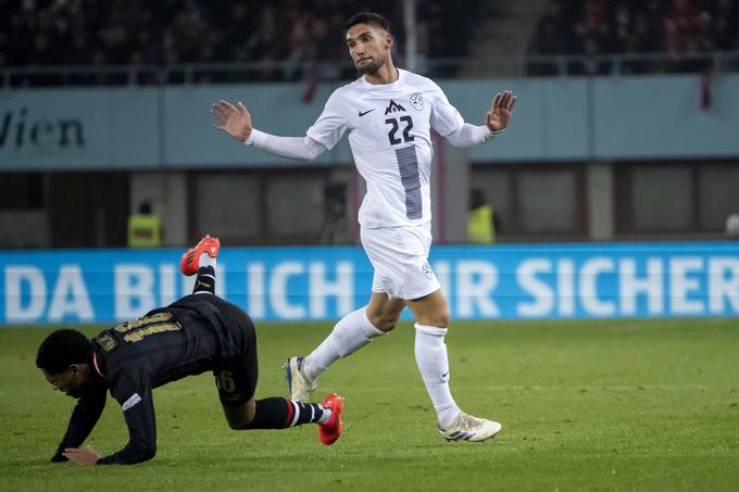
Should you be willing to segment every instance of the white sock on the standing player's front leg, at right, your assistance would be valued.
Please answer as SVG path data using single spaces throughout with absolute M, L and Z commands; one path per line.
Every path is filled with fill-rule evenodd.
M 416 323 L 415 356 L 426 391 L 439 418 L 439 426 L 448 428 L 460 414 L 449 391 L 449 356 L 443 338 L 447 328 L 423 326 Z

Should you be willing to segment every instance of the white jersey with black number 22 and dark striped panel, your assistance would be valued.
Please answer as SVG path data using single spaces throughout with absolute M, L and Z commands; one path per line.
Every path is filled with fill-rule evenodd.
M 392 84 L 373 85 L 361 77 L 335 90 L 308 129 L 308 137 L 326 149 L 349 131 L 354 163 L 367 184 L 359 214 L 367 228 L 431 219 L 431 128 L 446 137 L 464 125 L 433 80 L 398 72 Z

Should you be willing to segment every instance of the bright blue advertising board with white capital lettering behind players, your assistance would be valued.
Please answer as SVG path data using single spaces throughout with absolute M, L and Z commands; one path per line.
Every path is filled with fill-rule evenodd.
M 3 252 L 0 323 L 141 316 L 190 292 L 180 254 Z M 739 315 L 738 242 L 436 247 L 429 260 L 452 319 Z M 223 248 L 216 286 L 256 320 L 330 320 L 367 302 L 372 274 L 360 248 Z

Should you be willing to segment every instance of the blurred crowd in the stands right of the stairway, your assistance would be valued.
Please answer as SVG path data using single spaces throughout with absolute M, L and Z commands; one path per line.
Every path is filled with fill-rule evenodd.
M 624 63 L 626 73 L 696 72 L 710 66 L 693 56 L 739 50 L 737 0 L 549 0 L 529 48 L 530 54 L 666 53 L 663 62 Z M 625 58 L 628 60 L 628 58 Z M 665 63 L 667 66 L 665 66 Z M 534 64 L 533 72 L 551 70 Z M 606 73 L 610 64 L 590 70 Z M 588 71 L 585 65 L 569 72 Z

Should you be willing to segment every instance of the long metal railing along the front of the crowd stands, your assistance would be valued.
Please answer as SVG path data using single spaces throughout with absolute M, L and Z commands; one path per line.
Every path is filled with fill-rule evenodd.
M 402 66 L 402 64 L 401 64 Z M 469 70 L 472 68 L 472 70 Z M 517 55 L 426 59 L 418 72 L 433 77 L 592 76 L 739 72 L 739 51 L 622 53 L 598 55 Z M 484 74 L 484 75 L 480 75 Z M 349 80 L 350 62 L 181 63 L 159 65 L 25 65 L 0 68 L 1 87 L 150 86 L 273 81 Z

